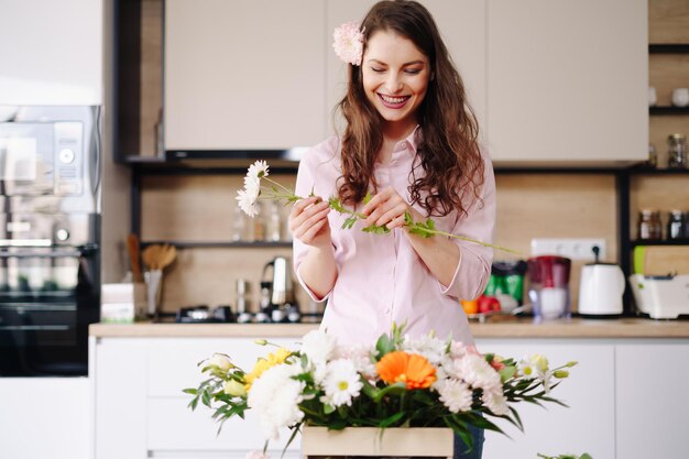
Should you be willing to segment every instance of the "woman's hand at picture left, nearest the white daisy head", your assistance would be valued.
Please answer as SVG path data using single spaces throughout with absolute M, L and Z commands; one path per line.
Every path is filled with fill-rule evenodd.
M 306 245 L 326 248 L 332 244 L 328 214 L 330 206 L 320 196 L 299 200 L 289 212 L 289 231 L 293 238 Z

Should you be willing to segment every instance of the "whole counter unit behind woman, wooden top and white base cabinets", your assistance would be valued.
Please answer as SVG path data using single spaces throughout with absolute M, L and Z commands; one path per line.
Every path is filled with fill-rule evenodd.
M 200 406 L 182 392 L 201 381 L 197 363 L 223 352 L 240 368 L 274 351 L 256 338 L 294 348 L 317 325 L 94 324 L 90 373 L 95 400 L 95 457 L 243 458 L 261 449 L 258 420 L 228 420 L 220 435 Z M 482 352 L 521 358 L 543 353 L 551 365 L 578 361 L 554 392 L 570 407 L 518 406 L 525 431 L 501 424 L 510 437 L 489 433 L 484 459 L 535 458 L 536 452 L 589 452 L 594 458 L 685 457 L 689 417 L 689 321 L 642 318 L 534 324 L 491 318 L 471 324 Z M 649 422 L 649 419 L 654 419 Z M 272 441 L 280 457 L 288 438 Z M 653 438 L 653 441 L 648 439 Z M 125 439 L 125 441 L 123 441 Z M 298 437 L 286 458 L 298 458 Z

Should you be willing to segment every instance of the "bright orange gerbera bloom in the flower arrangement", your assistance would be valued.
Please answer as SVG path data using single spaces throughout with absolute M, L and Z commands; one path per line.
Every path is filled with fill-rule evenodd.
M 424 356 L 404 351 L 386 353 L 375 368 L 386 383 L 403 382 L 409 390 L 426 389 L 437 380 L 435 367 Z

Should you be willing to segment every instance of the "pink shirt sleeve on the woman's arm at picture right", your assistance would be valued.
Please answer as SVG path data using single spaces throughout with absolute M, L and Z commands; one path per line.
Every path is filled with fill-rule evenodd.
M 492 243 L 495 230 L 495 176 L 488 153 L 482 151 L 482 156 L 484 172 L 480 199 L 474 200 L 467 215 L 459 215 L 451 232 Z M 453 241 L 460 250 L 459 262 L 452 281 L 447 287 L 438 282 L 440 292 L 458 299 L 477 298 L 488 284 L 493 262 L 493 249 L 460 239 Z

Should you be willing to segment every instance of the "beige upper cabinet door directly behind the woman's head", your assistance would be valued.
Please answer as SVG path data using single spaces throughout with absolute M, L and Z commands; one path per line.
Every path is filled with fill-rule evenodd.
M 373 0 L 328 0 L 327 91 L 328 112 L 347 90 L 347 65 L 332 52 L 332 32 L 348 21 L 361 21 Z M 485 113 L 485 8 L 482 0 L 425 0 L 422 3 L 433 14 L 442 40 L 459 70 L 469 103 L 482 132 Z M 340 121 L 338 120 L 338 125 Z

